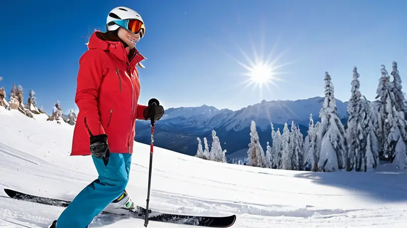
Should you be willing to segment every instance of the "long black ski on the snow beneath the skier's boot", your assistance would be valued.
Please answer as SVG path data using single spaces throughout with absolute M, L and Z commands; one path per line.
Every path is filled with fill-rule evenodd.
M 6 194 L 20 201 L 33 202 L 38 204 L 57 206 L 57 207 L 68 207 L 71 201 L 59 200 L 56 198 L 48 198 L 43 196 L 31 195 L 22 193 L 19 191 L 11 190 L 5 188 Z M 129 211 L 127 214 L 118 215 L 110 212 L 103 211 L 101 214 L 112 214 L 117 216 L 126 216 L 133 218 L 144 219 L 146 215 L 146 209 L 136 206 L 135 210 Z M 212 217 L 212 216 L 196 216 L 196 215 L 179 215 L 171 213 L 163 213 L 159 211 L 149 210 L 149 220 L 158 222 L 169 222 L 177 224 L 186 225 L 196 225 L 196 226 L 206 226 L 206 227 L 230 227 L 236 221 L 236 215 L 223 216 L 223 217 Z

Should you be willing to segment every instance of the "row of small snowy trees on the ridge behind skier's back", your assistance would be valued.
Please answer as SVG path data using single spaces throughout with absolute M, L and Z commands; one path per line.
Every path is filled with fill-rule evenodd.
M 3 77 L 0 77 L 0 81 Z M 23 113 L 25 116 L 34 118 L 35 115 L 46 114 L 47 121 L 56 121 L 61 124 L 61 121 L 68 123 L 70 125 L 75 125 L 76 123 L 76 113 L 73 109 L 70 109 L 68 115 L 63 115 L 62 107 L 59 101 L 56 101 L 54 108 L 52 109 L 51 115 L 48 115 L 44 111 L 43 106 L 37 107 L 37 98 L 35 97 L 34 90 L 28 92 L 27 102 L 24 104 L 24 90 L 22 86 L 16 86 L 15 83 L 9 94 L 9 99 L 7 100 L 7 94 L 4 87 L 0 88 L 0 106 L 3 106 L 7 110 L 16 109 Z

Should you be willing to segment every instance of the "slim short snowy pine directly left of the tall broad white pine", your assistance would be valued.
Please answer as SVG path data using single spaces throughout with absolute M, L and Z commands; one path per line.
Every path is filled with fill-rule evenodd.
M 319 123 L 319 122 L 318 122 Z M 314 126 L 314 120 L 312 119 L 312 114 L 309 115 L 309 128 L 308 128 L 308 147 L 304 144 L 304 151 L 307 153 L 304 161 L 304 170 L 310 170 L 316 172 L 318 170 L 318 160 L 317 160 L 317 126 Z

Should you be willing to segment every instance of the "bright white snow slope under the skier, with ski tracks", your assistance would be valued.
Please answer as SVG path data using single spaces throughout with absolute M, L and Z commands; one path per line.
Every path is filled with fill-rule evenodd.
M 159 123 L 158 123 L 159 124 Z M 72 200 L 96 178 L 89 156 L 70 157 L 73 126 L 0 108 L 0 187 Z M 146 204 L 149 146 L 135 144 L 127 191 Z M 309 173 L 217 163 L 155 148 L 152 209 L 238 218 L 232 227 L 407 227 L 407 174 Z M 63 208 L 0 191 L 0 227 L 46 227 Z M 97 216 L 91 227 L 143 227 Z M 149 227 L 194 227 L 153 222 Z

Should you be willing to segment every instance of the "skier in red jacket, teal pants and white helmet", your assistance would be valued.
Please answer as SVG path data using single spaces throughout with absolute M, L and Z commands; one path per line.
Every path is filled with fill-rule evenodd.
M 79 60 L 75 95 L 79 113 L 71 155 L 92 155 L 99 177 L 74 198 L 51 228 L 88 227 L 103 210 L 121 214 L 134 209 L 125 187 L 135 121 L 154 118 L 155 122 L 164 115 L 161 105 L 138 104 L 136 65 L 143 67 L 140 62 L 145 58 L 135 45 L 145 32 L 136 11 L 114 8 L 107 16 L 106 32 L 92 35 L 89 50 Z

